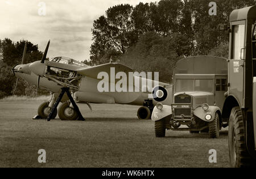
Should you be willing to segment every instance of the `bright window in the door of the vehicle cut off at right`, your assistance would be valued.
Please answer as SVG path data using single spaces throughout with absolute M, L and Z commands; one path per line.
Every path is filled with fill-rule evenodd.
M 241 59 L 242 48 L 245 48 L 245 24 L 233 25 L 233 59 Z

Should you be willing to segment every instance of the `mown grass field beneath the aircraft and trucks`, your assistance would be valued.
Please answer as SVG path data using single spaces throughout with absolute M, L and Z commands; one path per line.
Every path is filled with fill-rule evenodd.
M 229 167 L 228 131 L 167 131 L 155 138 L 152 121 L 137 120 L 138 106 L 79 105 L 86 121 L 34 121 L 40 101 L 0 101 L 0 167 Z M 47 163 L 38 163 L 38 150 Z M 217 163 L 208 161 L 217 151 Z

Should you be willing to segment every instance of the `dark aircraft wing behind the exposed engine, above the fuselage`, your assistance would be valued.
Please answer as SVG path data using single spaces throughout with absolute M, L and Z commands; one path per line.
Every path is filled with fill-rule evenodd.
M 114 75 L 117 74 L 118 72 L 124 72 L 126 75 L 129 74 L 129 72 L 133 72 L 130 67 L 127 67 L 125 65 L 122 65 L 121 63 L 106 63 L 103 65 L 98 65 L 98 66 L 93 66 L 93 67 L 88 67 L 84 69 L 79 69 L 76 70 L 78 74 L 82 76 L 89 76 L 90 78 L 98 78 L 98 74 L 101 72 L 106 72 L 110 76 L 111 73 L 111 68 L 114 68 Z

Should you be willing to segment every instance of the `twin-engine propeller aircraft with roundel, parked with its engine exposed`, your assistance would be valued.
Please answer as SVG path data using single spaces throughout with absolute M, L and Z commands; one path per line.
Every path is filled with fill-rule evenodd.
M 22 78 L 35 84 L 37 91 L 41 88 L 51 93 L 50 100 L 38 108 L 39 118 L 47 118 L 52 110 L 52 118 L 58 114 L 61 120 L 77 120 L 77 112 L 67 95 L 61 96 L 62 104 L 59 109 L 55 107 L 64 87 L 68 88 L 76 103 L 87 104 L 90 109 L 90 103 L 141 105 L 137 114 L 141 120 L 148 120 L 151 117 L 152 109 L 157 103 L 171 103 L 172 86 L 142 78 L 120 63 L 110 62 L 90 67 L 66 57 L 55 57 L 48 61 L 46 57 L 49 43 L 50 41 L 41 61 L 27 64 L 25 44 L 22 64 L 11 69 L 18 77 L 17 83 L 19 78 Z M 151 90 L 148 91 L 150 88 L 147 88 L 144 82 L 147 82 L 147 87 L 148 84 L 152 85 Z M 116 86 L 121 90 L 115 89 Z

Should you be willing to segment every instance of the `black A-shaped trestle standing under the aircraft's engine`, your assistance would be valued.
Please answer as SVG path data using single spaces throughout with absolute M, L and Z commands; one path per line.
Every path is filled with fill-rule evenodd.
M 72 105 L 73 105 L 75 111 L 77 112 L 77 114 L 78 114 L 78 116 L 79 116 L 79 117 L 77 118 L 77 120 L 79 120 L 79 121 L 85 121 L 85 119 L 84 119 L 84 117 L 82 117 L 82 114 L 81 114 L 81 112 L 80 112 L 80 110 L 79 110 L 79 107 L 76 105 L 76 102 L 75 102 L 75 100 L 73 99 L 73 97 L 72 97 L 72 95 L 71 95 L 71 93 L 70 93 L 68 87 L 63 87 L 63 88 L 61 88 L 61 93 L 60 93 L 60 95 L 59 95 L 57 101 L 56 101 L 55 104 L 53 105 L 53 108 L 51 109 L 51 112 L 49 113 L 49 116 L 47 117 L 46 121 L 50 121 L 50 120 L 52 119 L 53 113 L 54 113 L 54 111 L 57 109 L 57 106 L 59 105 L 60 100 L 62 99 L 62 97 L 63 97 L 63 95 L 64 95 L 65 93 L 67 93 L 69 100 L 71 101 L 71 103 L 72 103 Z

